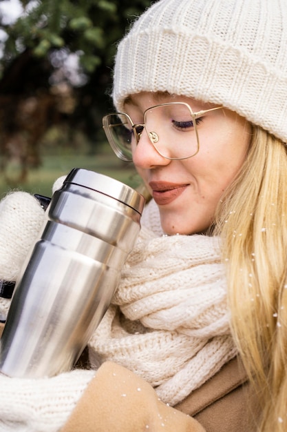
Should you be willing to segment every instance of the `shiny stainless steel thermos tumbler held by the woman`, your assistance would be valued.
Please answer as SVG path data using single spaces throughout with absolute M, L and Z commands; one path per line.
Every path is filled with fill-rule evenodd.
M 71 171 L 17 279 L 0 342 L 2 373 L 43 377 L 72 369 L 111 302 L 144 204 L 120 181 Z

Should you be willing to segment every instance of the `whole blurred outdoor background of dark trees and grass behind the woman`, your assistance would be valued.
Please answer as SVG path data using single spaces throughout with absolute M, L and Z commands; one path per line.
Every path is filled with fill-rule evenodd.
M 74 167 L 137 187 L 101 119 L 116 44 L 151 0 L 0 0 L 0 198 L 51 195 Z

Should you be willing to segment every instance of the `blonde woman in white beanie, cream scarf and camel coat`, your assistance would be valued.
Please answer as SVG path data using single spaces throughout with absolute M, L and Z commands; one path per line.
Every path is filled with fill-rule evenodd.
M 286 19 L 160 0 L 121 41 L 103 124 L 152 199 L 89 341 L 101 366 L 0 377 L 0 430 L 286 431 Z

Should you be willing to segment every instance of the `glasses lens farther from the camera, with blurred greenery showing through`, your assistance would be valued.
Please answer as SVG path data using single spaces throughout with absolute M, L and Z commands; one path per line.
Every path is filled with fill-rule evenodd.
M 124 161 L 132 161 L 131 139 L 134 132 L 129 117 L 125 114 L 109 114 L 103 118 L 105 134 L 111 148 Z

